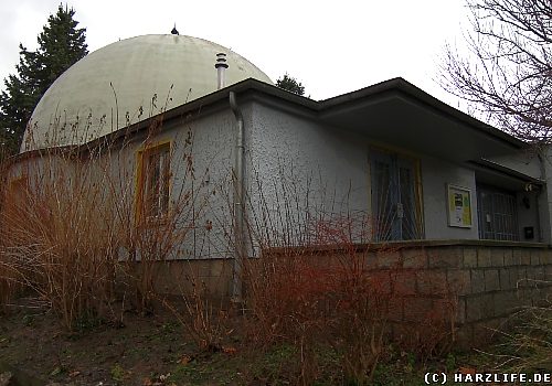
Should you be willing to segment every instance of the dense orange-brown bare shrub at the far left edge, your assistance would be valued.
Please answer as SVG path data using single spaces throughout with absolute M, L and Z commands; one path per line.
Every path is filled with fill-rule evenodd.
M 105 314 L 120 227 L 91 175 L 95 168 L 71 152 L 45 151 L 39 160 L 25 168 L 24 186 L 4 196 L 2 260 L 72 329 L 78 319 Z

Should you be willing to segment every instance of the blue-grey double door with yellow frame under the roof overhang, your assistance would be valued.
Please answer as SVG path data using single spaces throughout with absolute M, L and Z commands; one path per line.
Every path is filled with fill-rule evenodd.
M 374 239 L 422 238 L 415 161 L 372 150 L 370 162 Z

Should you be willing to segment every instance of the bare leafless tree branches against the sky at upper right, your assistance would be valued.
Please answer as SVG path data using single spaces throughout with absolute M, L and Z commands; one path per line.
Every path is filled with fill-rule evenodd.
M 442 86 L 513 136 L 552 139 L 552 2 L 466 0 L 470 55 L 448 46 Z

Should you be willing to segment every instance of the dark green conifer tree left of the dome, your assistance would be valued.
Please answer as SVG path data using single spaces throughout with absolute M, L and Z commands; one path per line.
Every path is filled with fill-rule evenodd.
M 4 79 L 6 89 L 0 94 L 0 159 L 2 153 L 19 151 L 26 124 L 46 89 L 88 53 L 86 29 L 77 29 L 73 9 L 60 4 L 38 36 L 39 49 L 19 45 L 18 74 Z

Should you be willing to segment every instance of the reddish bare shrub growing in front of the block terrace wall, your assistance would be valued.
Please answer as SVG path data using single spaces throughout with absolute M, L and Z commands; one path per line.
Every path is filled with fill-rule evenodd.
M 339 354 L 346 382 L 368 384 L 396 331 L 392 328 L 406 329 L 407 303 L 417 322 L 408 324 L 401 349 L 422 361 L 448 352 L 457 289 L 446 277 L 440 282 L 429 275 L 435 292 L 417 293 L 408 282 L 415 283 L 424 268 L 405 268 L 394 243 L 374 244 L 374 218 L 315 193 L 311 179 L 300 189 L 293 176 L 282 172 L 279 178 L 270 199 L 258 178 L 255 199 L 250 197 L 251 250 L 258 250 L 258 258 L 244 259 L 250 342 L 261 349 L 297 347 L 298 384 L 320 376 L 317 353 L 328 349 Z

